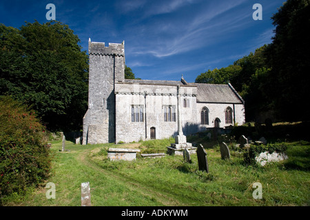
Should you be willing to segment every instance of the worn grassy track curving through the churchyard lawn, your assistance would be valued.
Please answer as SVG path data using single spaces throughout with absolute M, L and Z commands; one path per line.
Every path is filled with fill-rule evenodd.
M 92 149 L 94 151 L 96 149 Z M 129 179 L 127 177 L 124 177 L 122 175 L 119 175 L 117 173 L 114 173 L 110 170 L 105 170 L 98 166 L 96 163 L 94 163 L 87 155 L 89 155 L 91 150 L 85 150 L 83 151 L 77 159 L 79 159 L 85 166 L 88 166 L 90 168 L 93 168 L 94 170 L 103 173 L 107 177 L 111 177 L 114 179 L 114 181 L 118 181 L 121 184 L 124 184 L 127 188 L 129 188 L 131 191 L 135 191 L 138 193 L 141 193 L 141 195 L 145 197 L 150 198 L 156 198 L 156 201 L 161 203 L 163 206 L 185 206 L 185 204 L 180 203 L 180 201 L 174 199 L 169 193 L 163 194 L 161 192 L 158 192 L 158 190 L 145 186 L 141 183 L 138 183 L 136 181 L 132 181 L 132 179 Z

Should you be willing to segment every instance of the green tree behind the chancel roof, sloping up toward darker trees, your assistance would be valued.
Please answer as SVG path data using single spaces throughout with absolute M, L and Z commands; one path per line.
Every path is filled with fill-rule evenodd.
M 246 120 L 256 120 L 256 115 L 262 109 L 268 109 L 271 102 L 265 92 L 267 75 L 270 71 L 265 57 L 267 47 L 264 45 L 256 49 L 254 53 L 251 52 L 248 56 L 235 61 L 234 65 L 200 74 L 196 78 L 196 83 L 231 83 L 245 100 Z

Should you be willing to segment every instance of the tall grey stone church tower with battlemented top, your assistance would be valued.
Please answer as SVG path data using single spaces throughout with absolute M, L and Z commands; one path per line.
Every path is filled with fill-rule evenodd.
M 123 43 L 88 42 L 90 56 L 88 110 L 83 144 L 115 142 L 115 83 L 125 80 Z

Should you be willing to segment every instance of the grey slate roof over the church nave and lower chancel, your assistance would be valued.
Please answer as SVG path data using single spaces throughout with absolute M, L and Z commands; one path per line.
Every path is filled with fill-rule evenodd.
M 183 78 L 182 78 L 183 79 Z M 209 103 L 233 103 L 242 104 L 245 101 L 239 96 L 238 92 L 231 84 L 206 84 L 206 83 L 187 83 L 184 79 L 180 81 L 171 80 L 130 80 L 125 79 L 128 84 L 141 85 L 171 85 L 197 87 L 197 102 Z

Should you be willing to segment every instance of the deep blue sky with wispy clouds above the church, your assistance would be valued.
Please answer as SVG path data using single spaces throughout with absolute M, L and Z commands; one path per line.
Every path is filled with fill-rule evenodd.
M 136 77 L 193 83 L 208 69 L 227 67 L 271 43 L 271 16 L 285 0 L 116 0 L 0 1 L 0 23 L 20 28 L 24 21 L 48 22 L 45 6 L 54 3 L 56 20 L 68 24 L 87 51 L 88 39 L 125 41 L 126 65 Z M 252 9 L 262 5 L 262 20 Z

